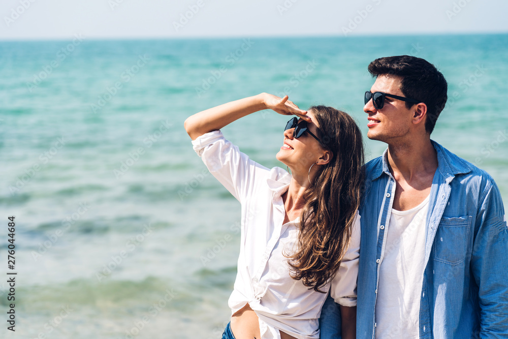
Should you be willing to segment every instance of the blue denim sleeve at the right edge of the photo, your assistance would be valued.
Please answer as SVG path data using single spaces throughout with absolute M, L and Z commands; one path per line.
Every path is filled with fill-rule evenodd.
M 508 338 L 508 228 L 496 183 L 488 180 L 477 214 L 471 270 L 478 285 L 480 337 Z

